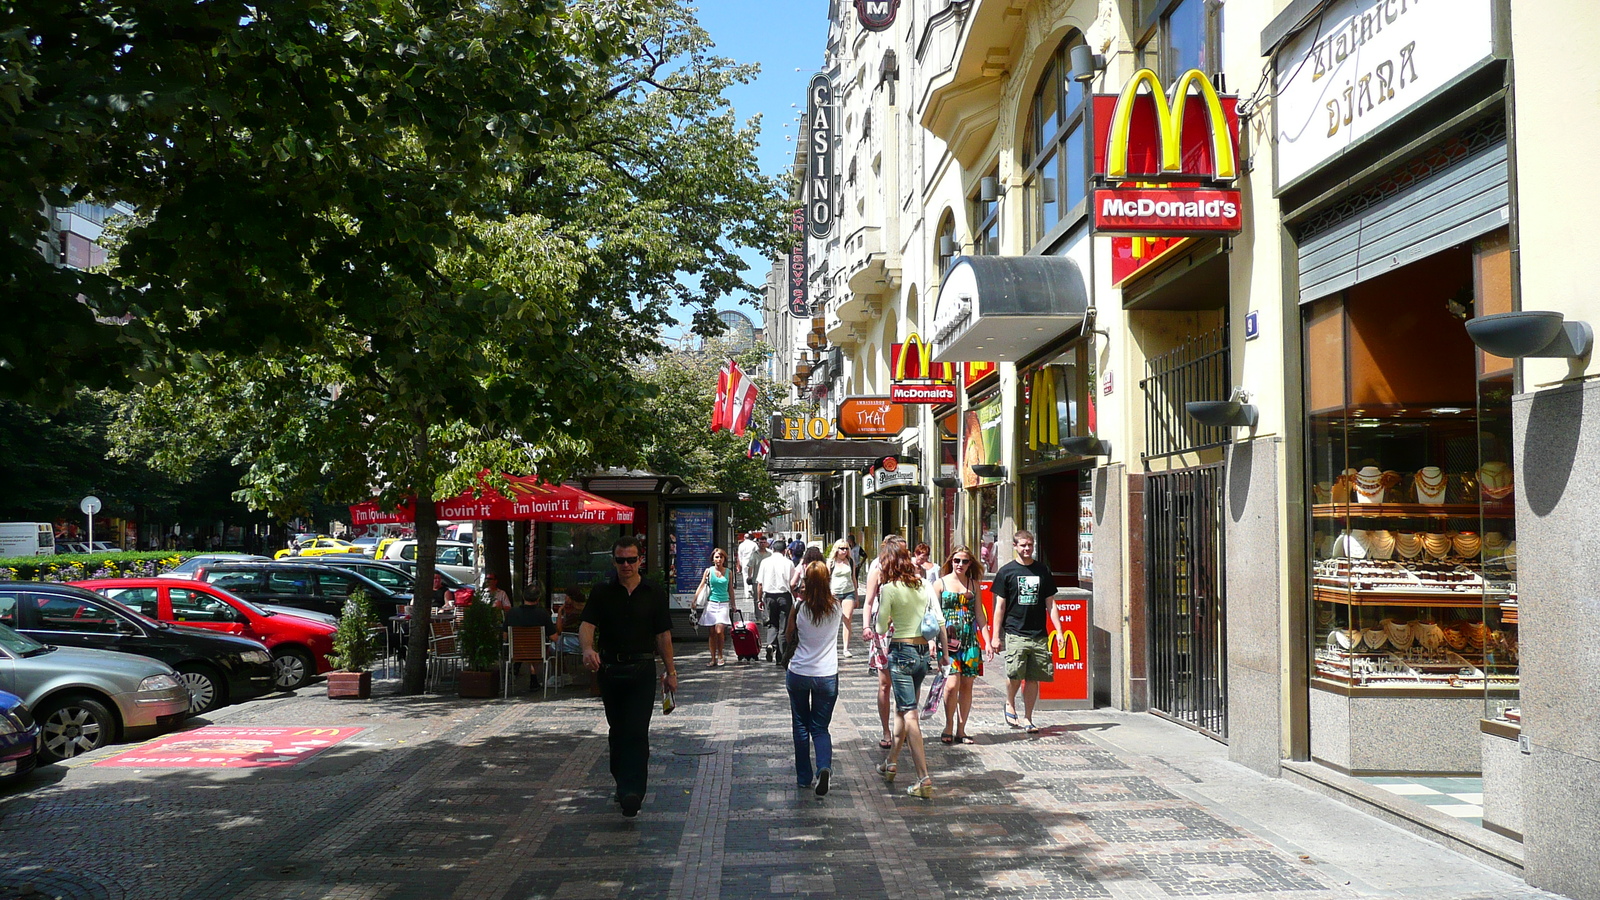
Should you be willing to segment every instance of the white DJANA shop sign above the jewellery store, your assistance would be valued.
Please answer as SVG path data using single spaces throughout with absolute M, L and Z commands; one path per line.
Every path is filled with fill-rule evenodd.
M 1282 191 L 1496 58 L 1494 0 L 1336 0 L 1274 56 Z

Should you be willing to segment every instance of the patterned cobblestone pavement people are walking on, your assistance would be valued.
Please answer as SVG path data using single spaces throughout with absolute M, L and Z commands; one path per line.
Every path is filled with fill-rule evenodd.
M 875 679 L 859 655 L 819 799 L 794 786 L 779 669 L 707 669 L 702 647 L 685 650 L 638 818 L 610 802 L 605 719 L 584 689 L 462 701 L 394 697 L 381 679 L 390 695 L 336 703 L 318 684 L 210 719 L 366 727 L 290 769 L 91 765 L 120 746 L 5 788 L 0 900 L 1550 897 L 1150 716 L 1006 729 L 992 684 L 976 746 L 942 746 L 930 724 L 938 793 L 907 798 L 872 772 Z

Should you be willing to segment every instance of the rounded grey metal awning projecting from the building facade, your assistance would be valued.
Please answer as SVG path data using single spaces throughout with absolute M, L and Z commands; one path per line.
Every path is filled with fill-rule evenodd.
M 962 256 L 933 306 L 933 362 L 1016 362 L 1083 322 L 1088 296 L 1067 256 Z

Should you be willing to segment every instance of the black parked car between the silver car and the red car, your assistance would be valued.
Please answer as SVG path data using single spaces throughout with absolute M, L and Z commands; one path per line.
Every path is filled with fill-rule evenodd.
M 72 585 L 0 581 L 0 625 L 43 644 L 160 660 L 182 676 L 197 716 L 275 690 L 261 641 L 166 625 Z

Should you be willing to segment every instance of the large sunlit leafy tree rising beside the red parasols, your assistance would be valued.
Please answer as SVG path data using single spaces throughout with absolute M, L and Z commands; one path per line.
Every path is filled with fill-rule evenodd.
M 224 291 L 218 307 L 182 319 L 158 309 L 146 325 L 168 351 L 152 357 L 165 378 L 128 404 L 123 453 L 181 468 L 237 447 L 248 466 L 240 496 L 283 517 L 306 496 L 414 498 L 424 585 L 438 533 L 432 501 L 477 487 L 480 471 L 560 480 L 637 461 L 653 388 L 632 364 L 661 349 L 675 304 L 707 322 L 718 298 L 754 290 L 733 247 L 776 251 L 782 203 L 755 168 L 754 128 L 722 96 L 750 69 L 709 56 L 677 3 L 632 10 L 630 43 L 608 53 L 594 35 L 624 19 L 602 10 L 611 6 L 574 0 L 555 35 L 566 48 L 558 64 L 518 69 L 525 83 L 510 93 L 568 96 L 558 128 L 539 123 L 520 141 L 480 135 L 483 152 L 464 170 L 430 122 L 398 123 L 414 135 L 344 167 L 365 181 L 338 187 L 349 208 L 270 224 L 267 247 L 285 253 L 269 258 L 270 277 L 254 264 L 261 248 L 243 253 L 243 269 L 261 277 L 226 283 L 248 303 Z M 477 40 L 451 32 L 461 54 L 515 37 L 488 24 Z M 336 149 L 360 157 L 342 144 L 317 154 Z M 443 199 L 432 197 L 446 181 Z M 416 210 L 398 208 L 405 200 Z M 165 211 L 128 235 L 114 271 L 211 296 L 198 255 L 155 247 Z M 285 223 L 320 239 L 278 235 Z M 174 357 L 178 348 L 190 352 Z M 408 690 L 422 689 L 426 641 L 413 629 Z

